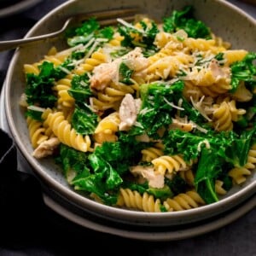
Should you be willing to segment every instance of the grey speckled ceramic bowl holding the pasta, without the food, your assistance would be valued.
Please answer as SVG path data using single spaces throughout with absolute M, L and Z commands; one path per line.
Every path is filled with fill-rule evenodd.
M 143 0 L 140 2 L 130 0 L 122 1 L 121 3 L 118 1 L 102 0 L 98 1 L 97 4 L 92 0 L 67 1 L 39 20 L 38 23 L 32 27 L 30 32 L 26 34 L 26 38 L 59 29 L 64 21 L 67 20 L 67 17 L 84 12 L 139 6 L 143 9 L 143 14 L 147 14 L 148 17 L 154 20 L 161 20 L 162 17 L 171 14 L 173 10 L 181 10 L 187 5 L 195 7 L 196 19 L 202 20 L 211 28 L 212 32 L 218 36 L 214 39 L 218 41 L 219 45 L 228 45 L 225 42 L 230 42 L 231 49 L 246 49 L 248 52 L 255 49 L 255 20 L 232 4 L 218 0 Z M 237 20 L 237 22 L 233 20 Z M 179 42 L 182 44 L 186 37 L 187 33 L 183 30 L 179 30 L 176 34 L 176 38 L 178 38 L 177 44 Z M 98 196 L 94 196 L 95 200 L 92 200 L 88 196 L 85 196 L 82 191 L 75 190 L 74 187 L 67 182 L 67 178 L 62 174 L 61 166 L 56 164 L 53 158 L 45 157 L 43 159 L 37 159 L 32 156 L 34 148 L 32 148 L 25 111 L 24 108 L 20 107 L 20 96 L 24 93 L 26 87 L 24 64 L 32 64 L 42 60 L 44 55 L 46 55 L 53 46 L 55 46 L 58 51 L 70 47 L 67 46 L 67 42 L 63 38 L 59 38 L 58 40 L 48 40 L 44 43 L 32 44 L 29 47 L 17 49 L 9 65 L 4 90 L 4 106 L 11 135 L 14 137 L 20 153 L 26 159 L 29 166 L 31 166 L 33 174 L 38 177 L 42 183 L 42 187 L 49 193 L 49 196 L 55 198 L 56 201 L 60 201 L 69 209 L 79 209 L 79 211 L 84 212 L 84 214 L 94 216 L 97 219 L 101 219 L 101 221 L 108 220 L 114 224 L 127 224 L 137 227 L 172 229 L 182 225 L 195 224 L 215 218 L 219 214 L 223 214 L 224 212 L 230 211 L 233 207 L 237 207 L 255 193 L 256 177 L 254 170 L 251 170 L 250 175 L 247 175 L 245 181 L 232 186 L 225 195 L 219 195 L 218 201 L 205 204 L 201 207 L 190 206 L 191 209 L 183 211 L 169 212 L 172 207 L 169 209 L 166 207 L 163 212 L 144 212 L 133 208 L 112 207 L 103 204 Z M 241 52 L 243 51 L 241 50 Z M 234 58 L 236 59 L 236 56 Z M 211 62 L 212 68 L 216 67 L 214 66 L 216 63 L 214 62 L 214 64 L 213 62 Z M 131 79 L 131 77 L 129 78 Z M 173 79 L 172 83 L 175 83 Z M 96 88 L 96 90 L 99 89 Z M 218 104 L 220 105 L 221 102 L 225 102 L 226 100 L 223 98 L 221 102 L 219 101 L 220 100 L 218 100 Z M 172 105 L 172 102 L 169 102 L 169 104 Z M 177 110 L 182 109 L 177 105 L 173 108 L 177 108 Z M 195 126 L 194 123 L 193 129 Z M 218 127 L 216 129 L 218 130 Z M 204 130 L 204 128 L 201 127 L 201 130 Z M 142 142 L 143 139 L 140 138 L 140 140 Z M 159 142 L 160 139 L 158 138 L 156 140 Z M 202 148 L 207 148 L 206 141 L 201 144 L 204 144 L 205 147 L 201 146 L 199 151 Z M 214 150 L 217 149 L 215 148 Z M 214 150 L 212 150 L 213 155 Z M 202 151 L 204 150 L 202 149 Z M 196 158 L 194 158 L 194 161 L 196 165 Z M 137 174 L 142 175 L 142 173 Z M 173 173 L 170 172 L 166 177 L 172 180 L 172 174 Z M 189 197 L 192 197 L 192 195 L 189 195 Z M 124 197 L 122 197 L 122 199 L 124 200 Z M 186 197 L 183 196 L 183 200 L 184 199 L 186 199 Z M 120 202 L 120 204 L 124 204 L 124 201 L 122 203 Z M 179 202 L 179 204 L 181 204 L 181 202 Z

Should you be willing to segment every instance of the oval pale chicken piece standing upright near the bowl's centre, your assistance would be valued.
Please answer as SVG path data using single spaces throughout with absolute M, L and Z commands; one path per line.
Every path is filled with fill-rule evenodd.
M 140 99 L 134 99 L 129 93 L 125 95 L 119 108 L 119 131 L 128 131 L 135 124 L 140 105 Z

